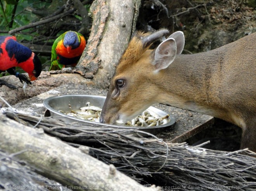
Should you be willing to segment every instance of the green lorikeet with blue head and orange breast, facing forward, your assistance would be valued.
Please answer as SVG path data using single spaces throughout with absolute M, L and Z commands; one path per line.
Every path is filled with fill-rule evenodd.
M 74 31 L 64 32 L 52 45 L 52 65 L 49 70 L 60 70 L 66 65 L 75 67 L 85 49 L 85 38 Z

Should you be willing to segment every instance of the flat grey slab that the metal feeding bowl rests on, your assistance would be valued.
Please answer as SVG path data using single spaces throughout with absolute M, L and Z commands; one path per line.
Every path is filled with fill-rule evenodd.
M 55 95 L 67 94 L 106 96 L 107 91 L 85 85 L 74 85 L 67 83 L 30 99 L 21 101 L 12 107 L 14 107 L 18 112 L 28 114 L 37 113 L 44 115 L 46 111 L 46 108 L 43 106 L 44 99 Z M 165 106 L 162 104 L 156 104 L 154 106 L 166 111 L 167 113 L 170 113 L 176 119 L 175 124 L 157 135 L 158 138 L 163 138 L 163 140 L 166 142 L 184 142 L 187 140 L 187 138 L 190 138 L 196 133 L 199 133 L 200 131 L 208 128 L 214 122 L 214 119 L 211 116 L 178 109 L 175 107 Z

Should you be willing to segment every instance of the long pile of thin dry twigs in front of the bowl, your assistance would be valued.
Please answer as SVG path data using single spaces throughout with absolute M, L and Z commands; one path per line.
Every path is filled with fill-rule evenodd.
M 142 183 L 147 180 L 170 190 L 256 189 L 256 158 L 253 158 L 256 154 L 249 150 L 228 153 L 185 143 L 165 143 L 154 135 L 144 138 L 141 131 L 68 124 L 58 118 L 26 114 L 14 116 L 7 113 L 7 116 L 43 128 L 49 135 L 74 147 L 86 145 L 90 155 L 106 164 L 114 164 L 119 171 L 137 181 L 143 180 Z

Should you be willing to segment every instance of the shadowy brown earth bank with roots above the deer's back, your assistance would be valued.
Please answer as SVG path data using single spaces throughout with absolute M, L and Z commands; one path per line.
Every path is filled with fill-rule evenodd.
M 204 52 L 256 32 L 255 0 L 143 0 L 137 29 L 183 31 L 187 53 Z

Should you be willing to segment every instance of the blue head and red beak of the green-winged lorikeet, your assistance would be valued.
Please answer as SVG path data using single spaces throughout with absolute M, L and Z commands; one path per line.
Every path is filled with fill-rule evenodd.
M 80 46 L 80 37 L 74 31 L 67 31 L 63 39 L 63 45 L 67 48 L 67 52 L 69 53 L 71 49 Z

